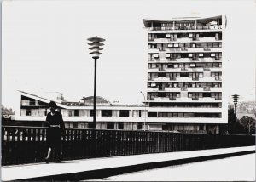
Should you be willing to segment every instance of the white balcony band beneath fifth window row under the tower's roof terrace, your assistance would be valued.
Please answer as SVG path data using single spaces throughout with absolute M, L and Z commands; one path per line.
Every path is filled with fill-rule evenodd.
M 201 82 L 214 82 L 221 81 L 221 76 L 215 77 L 148 77 L 148 81 L 159 81 L 159 82 L 168 82 L 168 81 L 177 81 L 177 82 L 189 82 L 189 81 L 201 81 Z

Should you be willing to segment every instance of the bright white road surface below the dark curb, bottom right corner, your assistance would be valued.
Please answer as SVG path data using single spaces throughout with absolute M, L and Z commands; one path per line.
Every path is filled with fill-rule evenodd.
M 126 173 L 95 181 L 255 181 L 255 153 Z

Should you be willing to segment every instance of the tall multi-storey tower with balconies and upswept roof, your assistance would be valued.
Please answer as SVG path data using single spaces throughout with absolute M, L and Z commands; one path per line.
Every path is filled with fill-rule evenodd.
M 148 129 L 219 133 L 227 123 L 223 16 L 143 20 L 148 30 Z

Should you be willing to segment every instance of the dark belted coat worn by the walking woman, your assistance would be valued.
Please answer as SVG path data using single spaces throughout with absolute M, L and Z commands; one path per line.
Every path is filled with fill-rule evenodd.
M 56 111 L 55 115 L 51 115 L 51 112 L 49 112 L 46 117 L 46 123 L 49 127 L 46 134 L 46 142 L 49 147 L 61 145 L 61 136 L 65 133 L 65 125 L 61 113 Z

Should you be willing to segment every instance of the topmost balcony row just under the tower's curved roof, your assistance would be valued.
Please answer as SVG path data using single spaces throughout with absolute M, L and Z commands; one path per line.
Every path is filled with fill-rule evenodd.
M 214 26 L 158 26 L 158 27 L 149 27 L 150 31 L 218 30 L 218 29 L 222 29 L 222 25 L 214 25 Z

